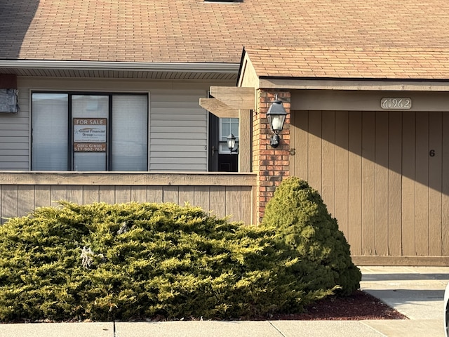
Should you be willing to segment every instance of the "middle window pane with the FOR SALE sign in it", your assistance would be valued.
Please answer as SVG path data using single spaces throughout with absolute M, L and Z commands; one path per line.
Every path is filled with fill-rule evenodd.
M 107 170 L 109 96 L 72 95 L 73 169 Z

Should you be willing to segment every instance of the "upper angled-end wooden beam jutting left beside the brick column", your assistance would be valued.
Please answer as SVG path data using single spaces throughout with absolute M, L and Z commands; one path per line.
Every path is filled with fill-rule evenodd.
M 255 88 L 211 86 L 210 95 L 232 109 L 255 109 Z

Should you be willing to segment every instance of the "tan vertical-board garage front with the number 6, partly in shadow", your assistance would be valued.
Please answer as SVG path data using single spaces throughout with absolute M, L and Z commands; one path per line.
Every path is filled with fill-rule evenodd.
M 293 111 L 290 173 L 319 190 L 353 256 L 449 256 L 448 131 L 444 112 Z

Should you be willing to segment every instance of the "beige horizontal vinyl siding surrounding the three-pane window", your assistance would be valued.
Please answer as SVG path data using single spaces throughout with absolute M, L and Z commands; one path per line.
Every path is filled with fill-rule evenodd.
M 234 82 L 19 77 L 20 112 L 0 114 L 0 170 L 30 167 L 31 92 L 79 91 L 149 93 L 149 169 L 207 171 L 208 116 L 199 106 L 199 98 L 206 97 L 210 86 L 217 85 L 234 86 Z M 2 136 L 1 131 L 8 133 Z

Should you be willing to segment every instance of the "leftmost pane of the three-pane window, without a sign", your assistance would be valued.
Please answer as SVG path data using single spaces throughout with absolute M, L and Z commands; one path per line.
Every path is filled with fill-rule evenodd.
M 68 169 L 68 95 L 32 94 L 32 169 Z

